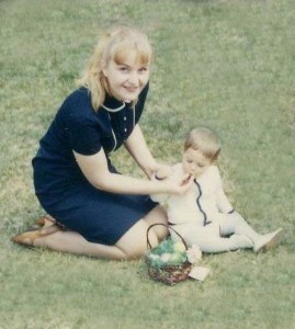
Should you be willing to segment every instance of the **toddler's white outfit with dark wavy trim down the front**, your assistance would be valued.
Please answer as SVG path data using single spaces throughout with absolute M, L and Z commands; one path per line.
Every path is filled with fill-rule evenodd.
M 183 174 L 182 163 L 178 163 L 168 179 L 181 182 Z M 232 208 L 216 166 L 208 167 L 195 179 L 188 193 L 155 194 L 151 198 L 166 207 L 169 225 L 182 236 L 188 247 L 197 245 L 204 252 L 222 252 L 252 248 L 252 241 L 260 237 Z M 179 239 L 173 230 L 170 229 L 170 234 L 173 239 Z

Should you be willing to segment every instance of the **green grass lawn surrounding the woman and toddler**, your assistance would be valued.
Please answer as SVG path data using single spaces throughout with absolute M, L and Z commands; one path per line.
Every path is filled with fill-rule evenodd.
M 0 2 L 1 329 L 295 328 L 294 12 L 292 0 Z M 215 129 L 229 197 L 259 231 L 284 227 L 279 248 L 206 256 L 204 283 L 167 287 L 144 260 L 9 241 L 43 214 L 32 185 L 37 140 L 113 24 L 140 26 L 154 44 L 141 128 L 155 156 L 177 162 L 190 127 Z M 124 151 L 113 160 L 140 174 Z

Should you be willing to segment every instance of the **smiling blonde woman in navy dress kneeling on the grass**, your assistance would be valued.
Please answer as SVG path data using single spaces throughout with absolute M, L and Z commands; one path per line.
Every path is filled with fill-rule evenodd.
M 114 260 L 146 251 L 147 228 L 167 223 L 147 195 L 181 194 L 192 183 L 136 179 L 118 174 L 111 163 L 111 152 L 124 145 L 148 178 L 163 168 L 138 125 L 150 61 L 146 35 L 133 29 L 117 29 L 99 42 L 80 88 L 63 103 L 33 159 L 36 195 L 58 225 L 45 220 L 44 228 L 14 242 Z M 152 245 L 166 235 L 156 227 Z

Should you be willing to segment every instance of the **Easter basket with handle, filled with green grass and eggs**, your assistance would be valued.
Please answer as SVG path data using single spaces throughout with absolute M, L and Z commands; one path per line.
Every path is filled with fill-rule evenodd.
M 192 270 L 192 263 L 188 261 L 186 257 L 188 246 L 180 234 L 169 226 L 169 229 L 173 230 L 173 232 L 180 238 L 181 242 L 175 243 L 172 241 L 171 237 L 168 237 L 158 247 L 151 248 L 149 230 L 156 225 L 168 227 L 168 225 L 164 224 L 154 224 L 150 225 L 147 230 L 147 246 L 149 250 L 146 254 L 146 264 L 148 268 L 148 274 L 156 281 L 160 281 L 168 285 L 174 285 L 189 279 L 189 273 Z M 180 250 L 174 250 L 177 247 Z M 171 250 L 173 253 L 167 252 Z M 169 254 L 171 256 L 168 257 Z

